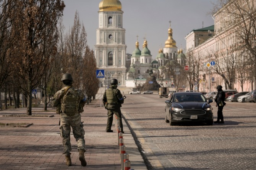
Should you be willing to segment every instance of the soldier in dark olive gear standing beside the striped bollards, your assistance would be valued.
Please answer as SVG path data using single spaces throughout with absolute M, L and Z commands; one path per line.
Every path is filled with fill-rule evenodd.
M 117 84 L 117 79 L 112 79 L 110 82 L 110 86 L 105 91 L 102 99 L 105 108 L 108 110 L 106 132 L 113 132 L 113 130 L 111 130 L 111 126 L 113 122 L 113 114 L 115 114 L 117 115 L 117 119 L 119 120 L 121 132 L 125 133 L 123 132 L 122 113 L 120 109 L 124 102 L 124 98 L 120 90 L 117 89 Z

